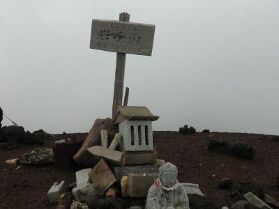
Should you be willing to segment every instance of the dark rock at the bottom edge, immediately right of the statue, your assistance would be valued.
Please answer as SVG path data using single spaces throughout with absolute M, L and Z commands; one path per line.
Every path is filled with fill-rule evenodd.
M 199 194 L 188 194 L 189 206 L 191 209 L 218 209 L 211 199 Z

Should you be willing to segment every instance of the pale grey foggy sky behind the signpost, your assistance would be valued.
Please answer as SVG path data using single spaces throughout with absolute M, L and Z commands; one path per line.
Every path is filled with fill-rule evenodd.
M 0 2 L 0 106 L 26 130 L 88 132 L 111 116 L 116 53 L 89 49 L 91 20 L 126 11 L 156 24 L 124 84 L 128 104 L 160 116 L 153 129 L 279 134 L 277 0 Z

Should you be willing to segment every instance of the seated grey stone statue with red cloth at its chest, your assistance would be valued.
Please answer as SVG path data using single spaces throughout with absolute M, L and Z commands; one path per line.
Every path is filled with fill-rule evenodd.
M 186 191 L 177 180 L 178 170 L 170 162 L 159 169 L 159 178 L 149 188 L 146 209 L 190 209 Z

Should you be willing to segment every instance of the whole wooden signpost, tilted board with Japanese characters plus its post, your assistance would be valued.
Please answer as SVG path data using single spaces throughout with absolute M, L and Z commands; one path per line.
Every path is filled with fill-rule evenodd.
M 155 25 L 129 20 L 128 13 L 121 13 L 119 21 L 92 20 L 90 48 L 117 52 L 112 118 L 122 105 L 126 54 L 152 54 Z

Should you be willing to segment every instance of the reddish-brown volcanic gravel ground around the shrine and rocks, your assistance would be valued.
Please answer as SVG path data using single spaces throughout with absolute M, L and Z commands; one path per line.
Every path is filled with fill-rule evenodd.
M 241 142 L 255 148 L 254 160 L 243 160 L 232 155 L 209 152 L 206 137 L 223 137 L 229 143 Z M 86 134 L 56 135 L 56 139 Z M 264 192 L 279 201 L 279 191 L 274 189 L 279 175 L 279 137 L 263 134 L 154 132 L 154 144 L 158 158 L 176 164 L 179 181 L 197 183 L 206 196 L 220 206 L 231 206 L 229 192 L 218 189 L 222 178 L 233 178 L 262 185 Z M 52 141 L 46 141 L 50 147 Z M 19 146 L 0 151 L 0 208 L 55 208 L 47 203 L 47 191 L 55 181 L 75 181 L 75 172 L 60 171 L 55 165 L 31 167 L 8 165 L 6 160 L 21 157 L 23 153 L 42 146 Z

